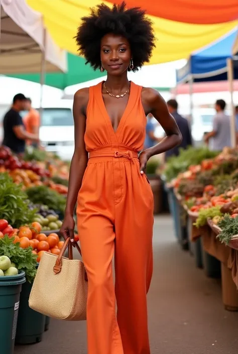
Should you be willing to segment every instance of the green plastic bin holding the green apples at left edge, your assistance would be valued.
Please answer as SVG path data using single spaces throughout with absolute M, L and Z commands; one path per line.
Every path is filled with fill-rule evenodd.
M 17 329 L 20 293 L 26 282 L 25 272 L 0 277 L 0 352 L 13 354 Z

